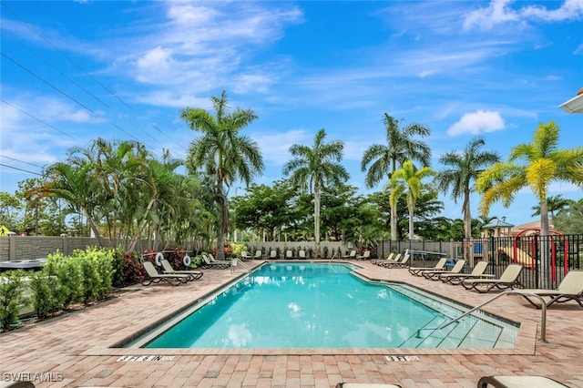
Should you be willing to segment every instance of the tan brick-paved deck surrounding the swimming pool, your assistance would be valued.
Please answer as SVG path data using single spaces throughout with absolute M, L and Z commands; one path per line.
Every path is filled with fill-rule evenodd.
M 368 261 L 352 262 L 371 279 L 404 281 L 471 306 L 495 294 L 466 291 Z M 482 376 L 507 374 L 543 375 L 583 387 L 583 309 L 573 301 L 549 308 L 547 342 L 538 342 L 540 311 L 517 295 L 502 297 L 484 309 L 521 323 L 512 349 L 112 348 L 243 271 L 204 273 L 201 280 L 179 287 L 131 286 L 110 301 L 0 334 L 3 381 L 20 375 L 37 387 L 333 387 L 340 382 L 476 387 Z

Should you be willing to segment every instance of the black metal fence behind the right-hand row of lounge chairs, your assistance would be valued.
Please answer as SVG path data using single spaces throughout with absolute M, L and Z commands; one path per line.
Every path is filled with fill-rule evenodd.
M 465 272 L 477 261 L 488 262 L 487 273 L 499 277 L 509 263 L 524 266 L 520 281 L 525 288 L 557 288 L 566 273 L 583 268 L 583 234 L 517 237 L 486 237 L 463 241 L 399 240 L 382 241 L 377 246 L 379 257 L 391 252 L 409 250 L 413 266 L 430 267 L 445 257 L 448 265 L 465 260 Z

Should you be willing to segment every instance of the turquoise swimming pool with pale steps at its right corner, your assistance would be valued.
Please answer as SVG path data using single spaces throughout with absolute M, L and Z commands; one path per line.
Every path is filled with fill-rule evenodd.
M 437 331 L 463 309 L 404 284 L 374 283 L 350 265 L 268 263 L 123 347 L 494 348 L 517 326 L 484 314 Z

